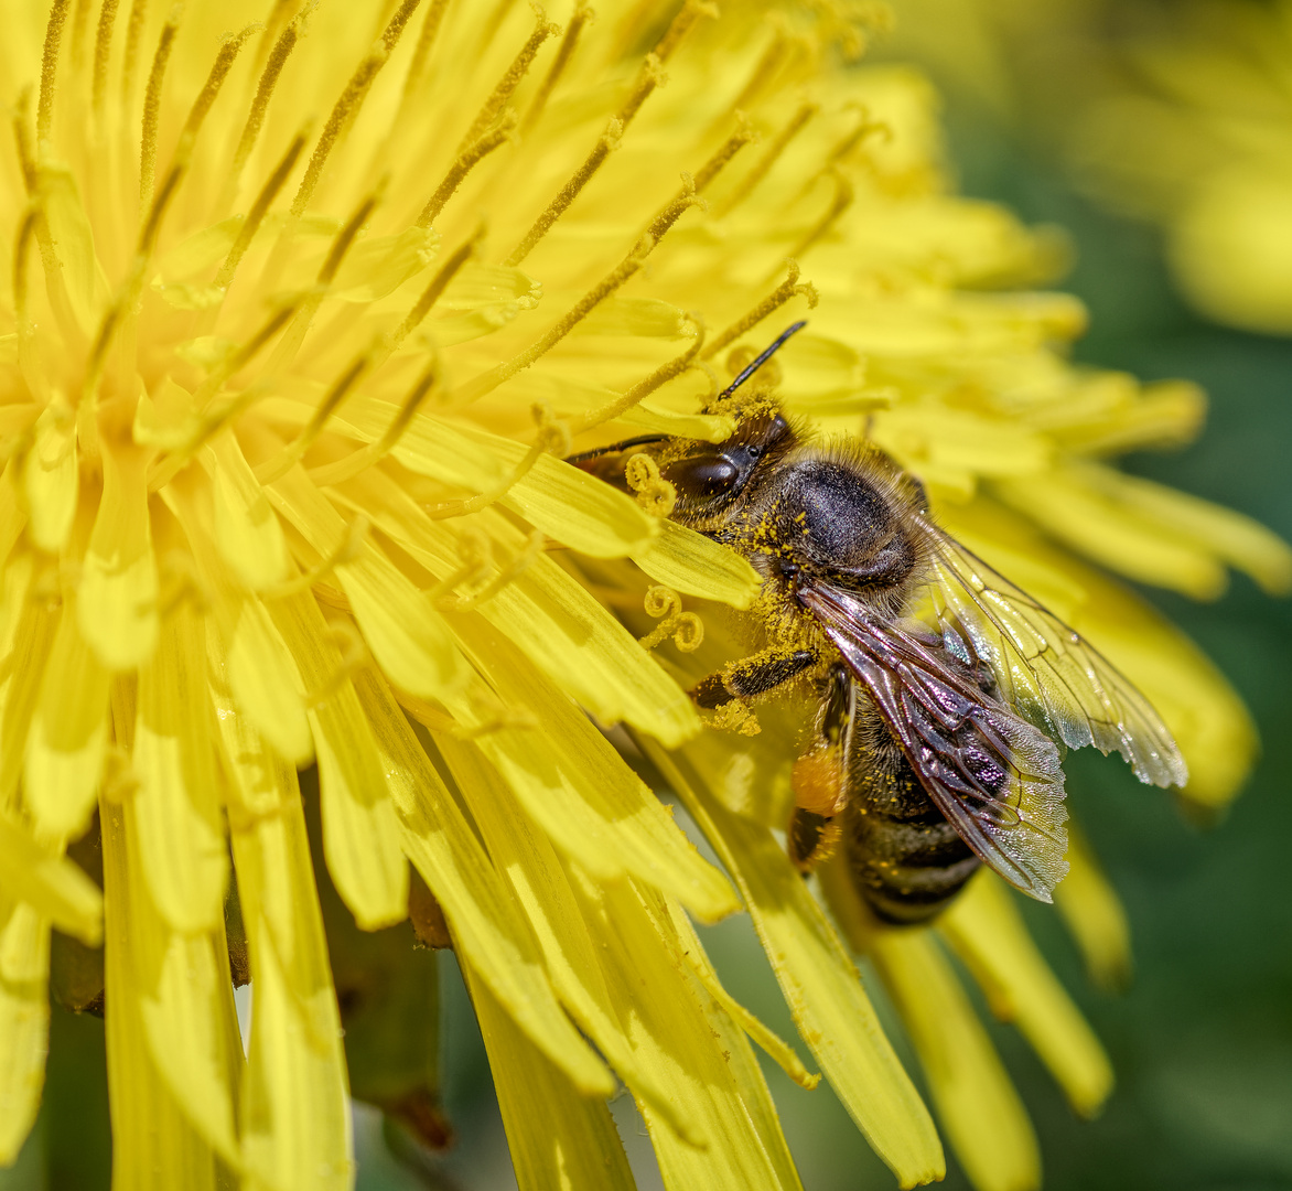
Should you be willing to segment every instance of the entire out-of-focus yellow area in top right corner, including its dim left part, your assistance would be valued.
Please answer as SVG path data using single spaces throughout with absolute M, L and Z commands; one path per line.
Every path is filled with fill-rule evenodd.
M 1078 189 L 1159 223 L 1203 315 L 1292 333 L 1292 5 L 903 0 L 928 65 Z

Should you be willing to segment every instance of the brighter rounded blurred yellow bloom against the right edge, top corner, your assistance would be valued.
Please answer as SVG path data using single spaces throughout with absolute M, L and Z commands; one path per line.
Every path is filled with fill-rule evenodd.
M 1167 231 L 1207 318 L 1292 335 L 1292 5 L 1189 4 L 1112 43 L 1121 67 L 1081 115 L 1093 192 Z

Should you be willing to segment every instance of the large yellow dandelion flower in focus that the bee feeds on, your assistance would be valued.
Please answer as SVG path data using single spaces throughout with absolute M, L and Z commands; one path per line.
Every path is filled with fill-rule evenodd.
M 52 930 L 105 943 L 78 1004 L 106 1011 L 116 1185 L 349 1186 L 349 1079 L 434 1141 L 425 1055 L 401 1054 L 425 1035 L 391 1024 L 424 1004 L 416 930 L 457 955 L 522 1186 L 632 1185 L 606 1108 L 621 1081 L 667 1185 L 795 1187 L 751 1040 L 817 1076 L 691 925 L 743 904 L 858 1126 L 903 1186 L 941 1177 L 932 1117 L 773 834 L 787 738 L 704 730 L 678 682 L 708 660 L 685 652 L 691 605 L 716 627 L 755 572 L 662 518 L 650 475 L 638 500 L 561 457 L 722 439 L 730 420 L 698 411 L 727 349 L 811 307 L 787 408 L 920 475 L 1142 686 L 1187 796 L 1220 805 L 1252 748 L 1242 707 L 1035 540 L 1195 594 L 1229 566 L 1286 583 L 1258 527 L 1105 462 L 1187 435 L 1198 394 L 1062 360 L 1081 311 L 1026 288 L 1054 243 L 948 192 L 919 75 L 845 68 L 870 5 L 4 16 L 0 1160 L 39 1103 Z M 651 585 L 665 633 L 637 627 Z M 628 725 L 731 880 L 594 721 Z M 94 838 L 102 893 L 67 856 Z M 1115 968 L 1115 902 L 1071 860 L 1066 913 Z M 394 958 L 346 942 L 333 886 L 364 931 L 412 907 Z M 942 934 L 1093 1111 L 1102 1051 L 1001 891 L 970 893 Z M 871 938 L 846 889 L 831 902 L 973 1177 L 1035 1181 L 941 944 Z M 1004 1106 L 999 1146 L 969 1129 L 979 1093 Z

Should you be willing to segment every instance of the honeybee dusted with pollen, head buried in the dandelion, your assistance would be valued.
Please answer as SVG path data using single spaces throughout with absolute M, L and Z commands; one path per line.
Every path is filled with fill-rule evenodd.
M 770 642 L 699 682 L 699 707 L 787 683 L 815 694 L 787 829 L 809 872 L 842 847 L 884 921 L 938 913 L 979 864 L 1041 902 L 1067 872 L 1061 751 L 1119 752 L 1141 782 L 1183 785 L 1169 730 L 1079 633 L 941 530 L 922 484 L 864 442 L 820 443 L 767 391 L 739 394 L 796 323 L 707 407 L 721 443 L 641 438 L 572 459 L 627 487 L 649 455 L 672 518 L 762 577 Z

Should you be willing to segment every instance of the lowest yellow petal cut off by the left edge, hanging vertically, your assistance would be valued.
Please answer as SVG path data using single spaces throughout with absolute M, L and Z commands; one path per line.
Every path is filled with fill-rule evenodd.
M 31 1132 L 49 1050 L 49 920 L 0 898 L 0 1166 Z

